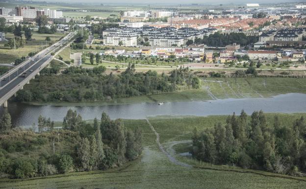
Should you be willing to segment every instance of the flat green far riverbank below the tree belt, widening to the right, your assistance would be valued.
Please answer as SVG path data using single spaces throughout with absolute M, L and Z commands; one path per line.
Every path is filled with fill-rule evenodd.
M 203 78 L 202 88 L 112 99 L 107 102 L 30 102 L 35 106 L 106 106 L 158 102 L 191 102 L 227 98 L 269 98 L 306 93 L 306 78 Z M 27 86 L 25 87 L 25 89 Z

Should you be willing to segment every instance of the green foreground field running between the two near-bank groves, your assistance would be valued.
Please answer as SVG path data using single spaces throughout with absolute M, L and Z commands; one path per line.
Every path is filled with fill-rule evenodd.
M 271 123 L 274 113 L 267 114 Z M 302 114 L 280 114 L 282 124 Z M 305 113 L 303 114 L 306 115 Z M 162 145 L 178 161 L 194 167 L 174 164 L 156 145 L 153 131 L 146 120 L 124 120 L 125 126 L 139 126 L 143 132 L 142 157 L 124 166 L 107 171 L 76 172 L 27 180 L 0 179 L 0 189 L 302 189 L 305 177 L 290 177 L 274 173 L 242 169 L 228 165 L 212 165 L 198 162 L 178 153 L 188 150 L 190 144 L 172 145 L 174 141 L 190 140 L 191 129 L 200 131 L 212 127 L 216 122 L 225 122 L 226 116 L 208 117 L 153 117 L 150 123 L 160 135 Z M 176 152 L 177 151 L 177 152 Z

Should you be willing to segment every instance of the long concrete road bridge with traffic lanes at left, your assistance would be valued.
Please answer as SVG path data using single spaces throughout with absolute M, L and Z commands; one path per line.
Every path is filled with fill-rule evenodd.
M 7 108 L 7 100 L 16 95 L 17 91 L 23 89 L 24 85 L 34 79 L 36 75 L 39 75 L 39 72 L 51 62 L 56 54 L 65 48 L 65 43 L 70 41 L 74 35 L 74 32 L 70 32 L 60 41 L 36 54 L 35 57 L 27 58 L 21 64 L 1 75 L 0 106 L 3 105 L 4 108 Z M 51 55 L 52 52 L 54 55 Z

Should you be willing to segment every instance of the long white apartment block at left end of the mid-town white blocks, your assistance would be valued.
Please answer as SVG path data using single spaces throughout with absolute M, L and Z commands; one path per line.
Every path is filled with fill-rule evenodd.
M 108 33 L 103 36 L 104 45 L 119 46 L 120 41 L 122 41 L 122 46 L 137 46 L 137 35 Z

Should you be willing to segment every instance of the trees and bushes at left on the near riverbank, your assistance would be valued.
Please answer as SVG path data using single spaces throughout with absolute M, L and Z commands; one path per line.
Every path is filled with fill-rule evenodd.
M 42 127 L 42 122 L 49 120 L 42 116 L 38 118 L 39 133 L 21 129 L 2 131 L 0 173 L 25 179 L 105 170 L 135 160 L 142 152 L 141 130 L 128 129 L 122 120 L 111 120 L 105 112 L 100 122 L 95 118 L 90 124 L 69 109 L 59 131 Z M 52 145 L 55 145 L 54 149 Z M 14 155 L 16 153 L 19 155 Z

